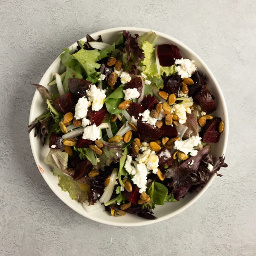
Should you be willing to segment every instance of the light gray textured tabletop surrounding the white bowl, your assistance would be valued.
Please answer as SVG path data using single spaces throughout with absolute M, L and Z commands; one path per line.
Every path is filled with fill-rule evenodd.
M 73 3 L 72 3 L 73 2 Z M 255 1 L 0 1 L 0 255 L 256 255 Z M 111 227 L 67 207 L 35 165 L 26 131 L 37 83 L 61 49 L 117 26 L 165 32 L 206 62 L 227 101 L 227 169 L 191 207 Z

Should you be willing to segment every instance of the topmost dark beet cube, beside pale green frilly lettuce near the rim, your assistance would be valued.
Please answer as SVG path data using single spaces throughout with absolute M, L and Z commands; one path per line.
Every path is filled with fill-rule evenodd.
M 162 44 L 157 46 L 157 56 L 159 63 L 163 67 L 172 66 L 175 63 L 175 59 L 180 59 L 180 49 L 173 44 Z

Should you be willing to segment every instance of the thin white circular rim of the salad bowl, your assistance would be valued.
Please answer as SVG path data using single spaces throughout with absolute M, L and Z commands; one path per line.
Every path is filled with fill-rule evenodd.
M 228 122 L 228 112 L 227 112 L 227 105 L 226 105 L 226 101 L 224 99 L 224 95 L 221 91 L 221 88 L 218 84 L 218 81 L 215 79 L 215 76 L 213 75 L 213 73 L 211 72 L 211 70 L 209 69 L 209 67 L 207 66 L 207 64 L 205 64 L 205 62 L 189 47 L 187 47 L 185 44 L 183 44 L 182 42 L 180 42 L 179 40 L 177 40 L 176 38 L 173 38 L 170 35 L 167 35 L 163 32 L 158 32 L 154 29 L 146 29 L 146 28 L 139 28 L 139 27 L 114 27 L 114 28 L 110 28 L 110 29 L 104 29 L 104 30 L 100 30 L 98 32 L 94 32 L 92 34 L 90 34 L 90 36 L 92 37 L 96 37 L 98 35 L 104 35 L 105 33 L 116 33 L 122 30 L 127 30 L 127 31 L 137 31 L 138 33 L 140 32 L 148 32 L 150 30 L 152 30 L 153 32 L 155 32 L 157 35 L 159 35 L 160 37 L 163 38 L 167 38 L 168 40 L 174 42 L 174 44 L 178 44 L 180 46 L 182 46 L 186 52 L 189 52 L 191 55 L 195 56 L 196 58 L 198 58 L 198 60 L 201 62 L 202 66 L 205 68 L 205 70 L 207 70 L 209 76 L 211 76 L 212 81 L 214 86 L 216 87 L 216 90 L 219 93 L 220 96 L 220 101 L 223 104 L 223 113 L 225 116 L 225 136 L 224 136 L 224 142 L 223 142 L 223 153 L 226 153 L 226 149 L 227 149 L 227 140 L 228 140 L 228 132 L 229 132 L 229 122 Z M 86 37 L 81 38 L 80 40 L 86 40 Z M 74 47 L 76 46 L 77 43 L 75 42 L 74 44 L 72 44 L 70 47 Z M 70 48 L 69 47 L 69 48 Z M 58 57 L 52 62 L 52 64 L 48 67 L 48 69 L 45 71 L 44 75 L 42 76 L 39 84 L 42 83 L 42 81 L 44 81 L 44 79 L 47 76 L 47 73 L 52 69 L 52 66 L 55 64 L 55 61 L 58 60 L 58 58 L 60 57 L 60 55 L 58 55 Z M 32 103 L 31 103 L 31 108 L 30 108 L 30 112 L 29 112 L 29 123 L 33 122 L 34 120 L 32 120 L 32 113 L 33 113 L 33 109 L 36 107 L 36 98 L 38 97 L 38 90 L 35 91 L 35 94 L 33 96 L 32 99 Z M 31 149 L 32 149 L 32 154 L 33 157 L 35 159 L 35 162 L 37 164 L 37 167 L 40 165 L 40 161 L 38 159 L 38 156 L 35 153 L 35 145 L 33 143 L 34 140 L 34 136 L 33 133 L 29 134 L 29 140 L 30 140 L 30 145 L 31 145 Z M 39 167 L 38 167 L 39 169 Z M 39 169 L 40 171 L 40 169 Z M 41 172 L 40 172 L 41 173 Z M 73 207 L 73 205 L 71 205 L 69 203 L 69 201 L 67 201 L 63 196 L 62 193 L 64 193 L 63 191 L 61 191 L 61 193 L 59 191 L 57 191 L 55 189 L 54 186 L 51 185 L 51 183 L 48 181 L 47 176 L 43 175 L 41 173 L 41 175 L 43 176 L 45 182 L 47 183 L 47 185 L 50 187 L 50 189 L 55 193 L 55 195 L 58 196 L 59 199 L 61 199 L 61 201 L 63 201 L 68 207 L 70 207 L 71 209 L 73 209 L 74 211 L 76 211 L 77 213 L 81 214 L 82 216 L 89 218 L 93 221 L 102 223 L 102 224 L 108 224 L 108 225 L 112 225 L 112 226 L 125 226 L 125 227 L 137 227 L 137 226 L 144 226 L 144 225 L 149 225 L 149 224 L 154 224 L 163 220 L 166 220 L 168 218 L 171 218 L 177 214 L 179 214 L 180 212 L 183 212 L 185 209 L 187 209 L 189 206 L 191 206 L 192 204 L 195 203 L 195 201 L 197 201 L 203 194 L 204 192 L 208 189 L 208 187 L 211 185 L 211 183 L 213 182 L 214 178 L 216 177 L 216 174 L 212 175 L 212 177 L 208 180 L 208 182 L 204 185 L 204 187 L 195 195 L 194 198 L 192 198 L 189 202 L 187 202 L 184 206 L 180 207 L 179 209 L 175 210 L 174 212 L 170 212 L 167 213 L 166 215 L 157 218 L 156 220 L 147 220 L 145 221 L 144 219 L 142 219 L 140 222 L 135 222 L 135 223 L 130 223 L 130 222 L 122 222 L 122 223 L 115 223 L 112 221 L 108 221 L 108 220 L 104 220 L 104 218 L 98 218 L 98 217 L 94 217 L 93 215 L 85 215 L 84 212 L 82 212 L 80 209 L 76 209 L 76 207 Z M 85 210 L 84 210 L 85 211 Z

